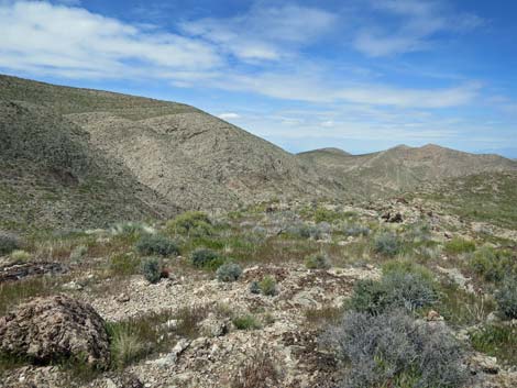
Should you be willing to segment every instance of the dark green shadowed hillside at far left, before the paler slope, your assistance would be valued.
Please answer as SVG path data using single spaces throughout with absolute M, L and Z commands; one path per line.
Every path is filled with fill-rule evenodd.
M 0 100 L 0 228 L 98 228 L 177 212 L 54 110 Z

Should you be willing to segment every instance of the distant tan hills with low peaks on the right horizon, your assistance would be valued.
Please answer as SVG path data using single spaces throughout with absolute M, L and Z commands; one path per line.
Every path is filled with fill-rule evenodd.
M 400 145 L 386 151 L 350 155 L 318 149 L 298 157 L 316 166 L 321 175 L 338 182 L 349 182 L 350 191 L 362 196 L 394 195 L 421 182 L 477 173 L 517 170 L 517 164 L 498 155 L 475 155 L 428 144 L 422 147 Z

